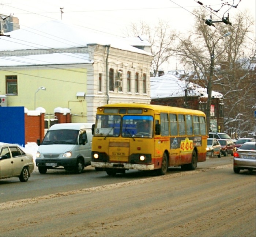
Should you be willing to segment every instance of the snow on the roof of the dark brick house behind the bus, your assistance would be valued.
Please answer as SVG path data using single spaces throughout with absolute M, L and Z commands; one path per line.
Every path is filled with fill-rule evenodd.
M 199 96 L 207 98 L 207 89 L 194 83 L 187 83 L 185 80 L 179 80 L 172 74 L 166 74 L 160 77 L 150 77 L 151 99 L 184 97 L 185 89 L 188 96 Z M 222 98 L 219 92 L 212 91 L 213 98 Z

